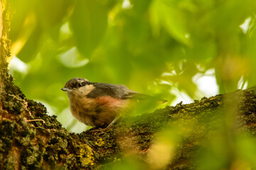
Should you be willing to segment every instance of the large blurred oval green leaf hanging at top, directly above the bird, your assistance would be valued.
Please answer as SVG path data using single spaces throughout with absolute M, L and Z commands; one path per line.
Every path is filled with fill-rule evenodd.
M 82 55 L 90 57 L 105 35 L 107 6 L 99 1 L 78 0 L 70 18 L 70 27 L 78 50 Z

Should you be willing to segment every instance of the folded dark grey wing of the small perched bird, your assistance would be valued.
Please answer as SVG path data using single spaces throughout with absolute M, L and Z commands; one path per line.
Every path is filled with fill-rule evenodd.
M 89 94 L 87 94 L 88 98 L 112 96 L 113 98 L 127 99 L 141 98 L 142 96 L 146 96 L 144 94 L 140 94 L 137 91 L 130 90 L 127 86 L 119 84 L 95 83 L 94 86 L 95 89 L 93 89 Z

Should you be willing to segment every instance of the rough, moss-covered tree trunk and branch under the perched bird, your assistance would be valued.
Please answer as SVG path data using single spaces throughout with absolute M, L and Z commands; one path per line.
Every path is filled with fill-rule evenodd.
M 13 84 L 6 64 L 10 41 L 9 11 L 4 0 L 0 4 L 2 12 L 0 169 L 108 169 L 124 157 L 136 158 L 144 167 L 194 169 L 193 153 L 200 148 L 202 139 L 218 133 L 216 125 L 221 124 L 223 115 L 230 116 L 231 128 L 234 125 L 240 133 L 256 132 L 256 89 L 251 88 L 187 105 L 166 106 L 154 113 L 122 120 L 105 132 L 69 133 L 55 116 L 47 115 L 41 103 L 28 100 Z M 157 135 L 176 125 L 193 128 L 182 131 L 169 162 L 156 165 L 150 152 Z

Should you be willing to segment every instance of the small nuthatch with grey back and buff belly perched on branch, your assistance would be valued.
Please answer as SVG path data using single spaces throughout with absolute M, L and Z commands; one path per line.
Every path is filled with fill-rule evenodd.
M 68 94 L 70 111 L 85 125 L 110 128 L 134 98 L 144 98 L 124 85 L 92 83 L 87 79 L 70 79 L 62 89 Z

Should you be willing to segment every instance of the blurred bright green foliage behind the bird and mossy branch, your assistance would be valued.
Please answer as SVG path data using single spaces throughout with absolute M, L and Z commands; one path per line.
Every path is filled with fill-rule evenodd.
M 70 131 L 86 128 L 60 91 L 74 77 L 172 104 L 255 85 L 256 1 L 11 0 L 11 8 L 15 83 Z

